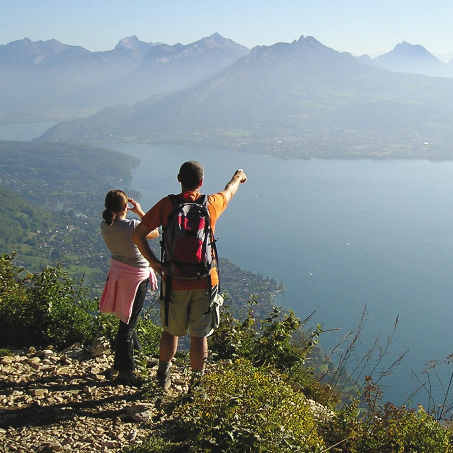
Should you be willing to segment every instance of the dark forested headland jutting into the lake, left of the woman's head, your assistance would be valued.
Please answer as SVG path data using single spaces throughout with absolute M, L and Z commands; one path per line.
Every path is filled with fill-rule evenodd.
M 139 159 L 64 143 L 0 141 L 1 185 L 53 211 L 94 214 L 105 188 L 130 178 Z M 97 212 L 97 211 L 96 211 Z

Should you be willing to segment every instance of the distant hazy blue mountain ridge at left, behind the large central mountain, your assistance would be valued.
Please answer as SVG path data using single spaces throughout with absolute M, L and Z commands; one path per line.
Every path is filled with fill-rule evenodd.
M 174 46 L 131 36 L 105 52 L 25 38 L 0 46 L 0 115 L 45 116 L 134 103 L 198 82 L 248 53 L 219 34 Z

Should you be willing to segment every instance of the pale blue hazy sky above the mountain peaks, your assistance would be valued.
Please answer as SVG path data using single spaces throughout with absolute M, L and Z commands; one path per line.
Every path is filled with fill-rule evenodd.
M 218 32 L 249 48 L 314 36 L 336 50 L 421 44 L 453 53 L 451 0 L 0 0 L 0 44 L 28 37 L 107 50 L 125 36 L 187 44 Z

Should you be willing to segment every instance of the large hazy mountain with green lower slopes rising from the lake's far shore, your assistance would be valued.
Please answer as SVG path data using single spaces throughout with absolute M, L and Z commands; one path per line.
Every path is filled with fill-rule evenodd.
M 451 153 L 452 120 L 453 79 L 391 72 L 301 36 L 257 46 L 187 89 L 60 123 L 39 140 L 436 158 Z

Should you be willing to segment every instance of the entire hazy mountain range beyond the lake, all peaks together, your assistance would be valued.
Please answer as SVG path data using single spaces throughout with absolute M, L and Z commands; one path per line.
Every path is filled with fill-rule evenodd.
M 304 36 L 251 51 L 217 33 L 173 46 L 131 36 L 106 52 L 22 39 L 0 46 L 0 115 L 85 110 L 39 140 L 437 158 L 453 143 L 453 77 L 439 77 L 452 67 L 406 42 L 372 60 Z

